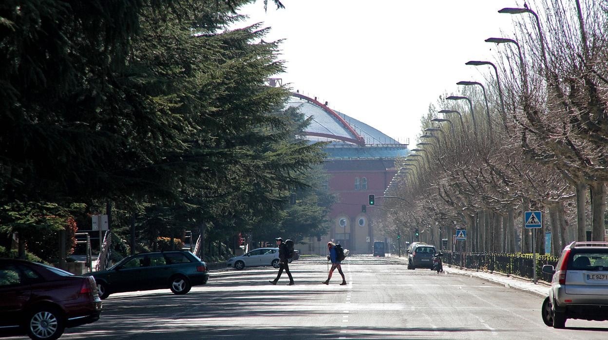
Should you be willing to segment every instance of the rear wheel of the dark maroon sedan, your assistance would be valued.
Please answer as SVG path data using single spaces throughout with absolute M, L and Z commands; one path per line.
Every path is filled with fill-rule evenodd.
M 55 340 L 65 329 L 63 315 L 54 307 L 38 307 L 27 321 L 27 335 L 33 340 Z

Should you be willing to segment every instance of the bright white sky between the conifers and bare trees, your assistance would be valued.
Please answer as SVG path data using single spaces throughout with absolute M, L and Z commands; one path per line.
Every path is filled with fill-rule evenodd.
M 243 7 L 246 24 L 272 28 L 267 41 L 285 39 L 283 84 L 371 125 L 410 148 L 420 118 L 456 83 L 484 83 L 495 62 L 490 37 L 513 38 L 513 15 L 503 7 L 523 0 L 282 0 Z M 243 24 L 244 26 L 245 24 Z M 503 48 L 503 47 L 500 47 Z M 441 108 L 440 108 L 441 109 Z

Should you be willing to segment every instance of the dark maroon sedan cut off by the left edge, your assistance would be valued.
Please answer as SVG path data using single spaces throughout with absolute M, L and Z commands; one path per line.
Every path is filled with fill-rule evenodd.
M 54 340 L 66 327 L 97 321 L 101 312 L 93 277 L 0 258 L 0 336 Z

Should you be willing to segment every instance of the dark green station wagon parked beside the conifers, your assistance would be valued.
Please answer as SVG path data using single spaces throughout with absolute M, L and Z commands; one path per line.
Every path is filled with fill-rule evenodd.
M 206 263 L 189 251 L 142 252 L 120 260 L 106 271 L 90 272 L 102 299 L 112 293 L 169 288 L 186 294 L 209 280 Z

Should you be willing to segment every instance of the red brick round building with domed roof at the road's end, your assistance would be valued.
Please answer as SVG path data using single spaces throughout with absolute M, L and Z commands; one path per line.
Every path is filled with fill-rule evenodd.
M 371 254 L 374 241 L 385 241 L 376 231 L 374 215 L 377 208 L 367 206 L 368 195 L 382 196 L 398 171 L 395 158 L 409 154 L 407 144 L 381 133 L 375 128 L 330 109 L 316 98 L 293 94 L 288 103 L 297 106 L 313 123 L 306 129 L 310 141 L 328 141 L 325 168 L 330 173 L 328 190 L 337 193 L 332 207 L 331 229 L 320 240 L 308 240 L 303 254 L 323 254 L 328 241 L 336 241 L 351 254 Z M 365 212 L 362 206 L 367 206 Z

